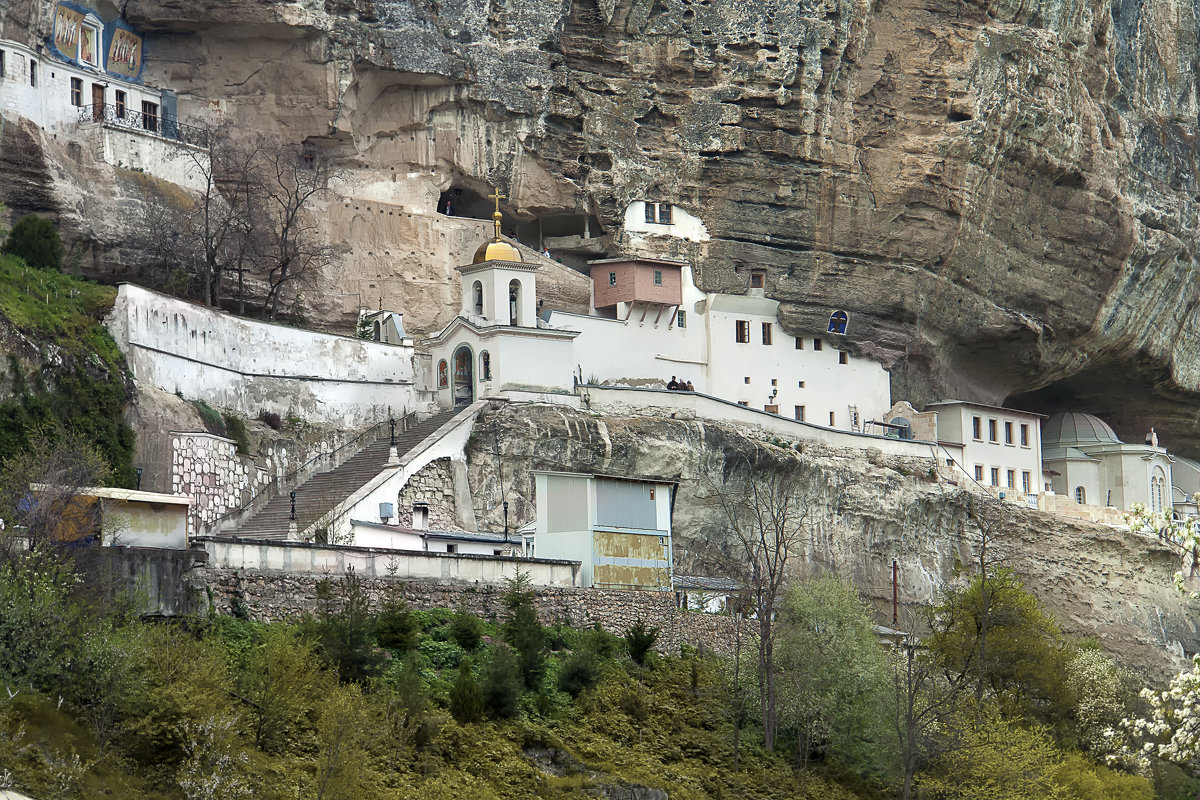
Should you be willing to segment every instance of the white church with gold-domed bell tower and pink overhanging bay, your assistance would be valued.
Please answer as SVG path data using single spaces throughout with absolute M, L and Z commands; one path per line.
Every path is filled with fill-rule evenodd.
M 890 407 L 888 372 L 842 345 L 848 319 L 791 336 L 779 302 L 752 271 L 745 295 L 706 293 L 683 261 L 632 258 L 589 265 L 589 313 L 536 313 L 538 265 L 499 234 L 457 267 L 462 309 L 425 348 L 438 404 L 486 396 L 574 393 L 577 384 L 696 392 L 803 422 L 863 431 Z

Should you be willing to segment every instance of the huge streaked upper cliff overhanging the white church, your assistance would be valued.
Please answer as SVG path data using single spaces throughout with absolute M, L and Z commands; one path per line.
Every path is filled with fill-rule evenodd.
M 5 31 L 43 35 L 50 6 L 0 4 Z M 764 266 L 792 332 L 846 309 L 851 345 L 892 369 L 898 397 L 1049 386 L 1027 404 L 1078 397 L 1128 437 L 1157 423 L 1172 447 L 1200 449 L 1193 4 L 121 8 L 149 32 L 148 80 L 179 89 L 181 107 L 316 138 L 341 156 L 347 194 L 424 215 L 424 230 L 396 234 L 418 247 L 347 234 L 330 281 L 353 302 L 415 293 L 449 306 L 421 323 L 454 313 L 460 253 L 434 247 L 433 215 L 451 186 L 498 185 L 524 218 L 595 215 L 613 252 L 635 243 L 628 203 L 660 199 L 710 240 L 638 249 L 691 259 L 707 289 L 739 291 Z M 346 311 L 323 302 L 326 319 Z

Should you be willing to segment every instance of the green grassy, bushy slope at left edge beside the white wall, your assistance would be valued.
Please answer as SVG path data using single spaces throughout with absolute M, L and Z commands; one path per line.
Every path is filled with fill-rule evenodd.
M 0 327 L 37 345 L 16 348 L 5 365 L 12 393 L 0 401 L 0 463 L 28 451 L 35 431 L 50 439 L 73 432 L 101 452 L 116 486 L 134 485 L 125 357 L 100 323 L 115 296 L 0 254 Z

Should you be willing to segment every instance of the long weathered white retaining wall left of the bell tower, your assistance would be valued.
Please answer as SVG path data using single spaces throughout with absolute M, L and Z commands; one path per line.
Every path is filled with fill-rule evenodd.
M 108 329 L 138 380 L 246 416 L 362 426 L 422 405 L 410 347 L 241 319 L 131 284 Z

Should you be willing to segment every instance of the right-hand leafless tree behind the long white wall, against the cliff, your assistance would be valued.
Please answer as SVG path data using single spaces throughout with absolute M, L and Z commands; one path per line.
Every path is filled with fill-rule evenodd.
M 270 287 L 263 311 L 271 319 L 278 317 L 284 291 L 299 291 L 334 260 L 335 249 L 320 240 L 310 209 L 334 176 L 329 160 L 312 146 L 264 148 L 263 207 L 271 239 L 263 257 Z

